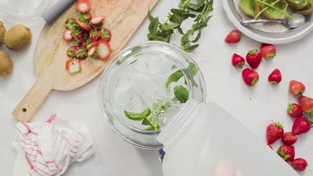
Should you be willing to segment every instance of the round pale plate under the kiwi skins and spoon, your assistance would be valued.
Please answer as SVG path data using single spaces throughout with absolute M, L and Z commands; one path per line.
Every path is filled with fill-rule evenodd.
M 228 19 L 235 27 L 246 36 L 264 43 L 283 44 L 298 40 L 313 30 L 312 15 L 305 16 L 305 22 L 293 29 L 287 29 L 283 24 L 253 24 L 242 26 L 239 21 L 248 18 L 239 6 L 240 0 L 222 0 L 222 4 Z

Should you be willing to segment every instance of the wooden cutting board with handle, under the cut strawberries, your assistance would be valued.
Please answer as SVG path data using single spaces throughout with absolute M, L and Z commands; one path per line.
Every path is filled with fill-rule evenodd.
M 120 51 L 134 34 L 158 0 L 90 0 L 92 16 L 105 15 L 104 27 L 112 33 L 113 49 L 106 60 L 87 58 L 81 61 L 81 73 L 65 70 L 66 50 L 73 42 L 62 39 L 66 18 L 77 14 L 73 3 L 52 24 L 45 24 L 37 41 L 33 64 L 37 81 L 16 106 L 12 114 L 20 121 L 31 120 L 45 99 L 55 90 L 72 90 L 96 77 L 108 61 Z

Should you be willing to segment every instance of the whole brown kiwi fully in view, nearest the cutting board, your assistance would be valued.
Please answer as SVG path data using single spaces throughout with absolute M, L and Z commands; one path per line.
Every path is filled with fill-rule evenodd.
M 11 50 L 21 50 L 28 46 L 31 40 L 29 28 L 22 24 L 14 25 L 8 29 L 3 37 L 4 44 Z

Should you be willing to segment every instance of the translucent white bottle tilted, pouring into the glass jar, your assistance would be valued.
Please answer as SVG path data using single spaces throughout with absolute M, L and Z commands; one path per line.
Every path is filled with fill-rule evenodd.
M 298 176 L 275 151 L 215 103 L 189 99 L 161 127 L 164 176 L 215 176 L 227 158 L 247 176 Z M 232 176 L 232 175 L 229 175 Z

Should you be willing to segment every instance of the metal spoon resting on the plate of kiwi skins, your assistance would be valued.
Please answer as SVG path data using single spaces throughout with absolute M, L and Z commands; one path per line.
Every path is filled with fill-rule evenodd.
M 299 13 L 292 13 L 291 16 L 295 17 L 295 19 L 241 19 L 240 24 L 243 26 L 247 26 L 249 24 L 261 23 L 261 22 L 281 22 L 286 27 L 295 28 L 303 24 L 305 21 L 305 17 Z

